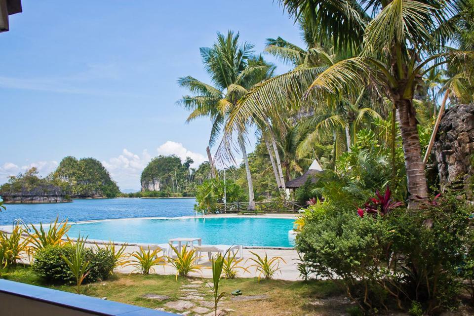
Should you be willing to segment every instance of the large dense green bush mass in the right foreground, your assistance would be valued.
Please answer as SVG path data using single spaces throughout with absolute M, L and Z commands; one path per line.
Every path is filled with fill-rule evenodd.
M 350 205 L 327 210 L 307 221 L 297 250 L 360 308 L 383 307 L 388 296 L 400 309 L 411 301 L 427 313 L 456 307 L 457 277 L 471 256 L 465 249 L 473 206 L 464 197 L 446 195 L 416 210 L 399 207 L 363 217 Z

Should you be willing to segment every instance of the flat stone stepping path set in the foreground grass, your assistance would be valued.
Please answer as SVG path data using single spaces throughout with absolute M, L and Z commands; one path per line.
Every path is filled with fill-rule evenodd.
M 190 284 L 181 285 L 180 296 L 178 301 L 170 301 L 164 304 L 164 309 L 159 308 L 159 310 L 166 310 L 170 312 L 178 312 L 180 315 L 185 316 L 214 316 L 214 302 L 211 300 L 206 300 L 205 296 L 209 295 L 209 285 L 211 283 L 204 283 L 200 280 L 192 281 Z M 164 295 L 157 294 L 147 294 L 144 297 L 148 299 L 160 300 Z M 262 299 L 264 297 L 253 298 L 253 299 Z M 167 297 L 166 299 L 169 299 Z M 251 298 L 252 299 L 252 298 Z M 164 300 L 164 299 L 163 299 Z M 234 310 L 226 308 L 223 306 L 224 302 L 219 302 L 217 310 L 217 315 L 228 315 Z

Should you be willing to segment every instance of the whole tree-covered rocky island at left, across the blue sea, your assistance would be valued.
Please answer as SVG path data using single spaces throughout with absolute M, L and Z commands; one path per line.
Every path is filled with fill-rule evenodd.
M 71 156 L 63 158 L 57 169 L 45 178 L 33 167 L 0 186 L 5 203 L 57 203 L 119 194 L 117 184 L 99 160 Z

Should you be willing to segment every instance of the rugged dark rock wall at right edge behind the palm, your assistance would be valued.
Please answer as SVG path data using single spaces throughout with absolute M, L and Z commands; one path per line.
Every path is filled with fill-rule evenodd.
M 446 110 L 435 138 L 435 157 L 441 190 L 467 189 L 474 175 L 474 104 Z

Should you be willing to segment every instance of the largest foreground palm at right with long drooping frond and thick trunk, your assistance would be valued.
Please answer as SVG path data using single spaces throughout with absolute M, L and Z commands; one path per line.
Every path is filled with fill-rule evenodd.
M 230 115 L 226 130 L 250 115 L 265 117 L 284 100 L 304 96 L 307 106 L 356 98 L 367 84 L 387 96 L 398 113 L 410 205 L 428 196 L 413 104 L 420 78 L 472 52 L 447 50 L 462 0 L 280 0 L 291 16 L 317 26 L 316 42 L 356 52 L 327 69 L 297 68 L 253 89 Z M 300 106 L 300 104 L 297 104 Z M 240 121 L 239 121 L 240 119 Z

